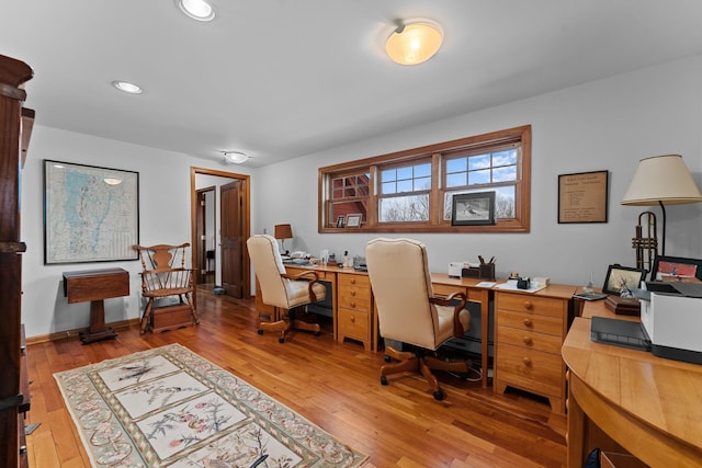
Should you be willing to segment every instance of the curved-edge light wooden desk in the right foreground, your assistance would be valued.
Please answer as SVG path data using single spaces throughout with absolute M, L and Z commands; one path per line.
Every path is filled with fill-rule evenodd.
M 702 366 L 592 342 L 585 316 L 602 312 L 599 303 L 586 304 L 562 349 L 568 467 L 595 447 L 623 448 L 652 467 L 702 466 Z

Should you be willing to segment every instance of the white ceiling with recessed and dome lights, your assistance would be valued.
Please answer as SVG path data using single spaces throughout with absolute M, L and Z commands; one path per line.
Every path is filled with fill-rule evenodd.
M 0 54 L 33 67 L 38 125 L 258 167 L 702 53 L 699 0 L 212 3 L 202 23 L 174 0 L 9 0 Z M 412 18 L 444 44 L 403 67 L 384 42 Z

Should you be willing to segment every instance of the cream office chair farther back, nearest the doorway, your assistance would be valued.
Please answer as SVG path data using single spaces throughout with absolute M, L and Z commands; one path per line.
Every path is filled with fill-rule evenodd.
M 317 282 L 317 273 L 308 271 L 288 275 L 278 250 L 278 241 L 272 236 L 251 236 L 246 244 L 261 288 L 261 299 L 263 304 L 275 308 L 274 317 L 269 317 L 269 321 L 263 321 L 261 317 L 264 313 L 259 311 L 258 333 L 280 331 L 280 343 L 285 342 L 285 336 L 293 329 L 312 331 L 319 335 L 318 323 L 309 323 L 297 317 L 298 312 L 304 312 L 306 305 L 325 299 L 327 290 Z M 283 317 L 285 310 L 287 320 Z

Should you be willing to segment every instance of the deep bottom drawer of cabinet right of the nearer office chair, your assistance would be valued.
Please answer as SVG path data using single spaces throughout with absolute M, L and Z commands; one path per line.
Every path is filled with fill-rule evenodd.
M 542 396 L 563 397 L 563 359 L 526 347 L 500 343 L 497 353 L 496 380 Z

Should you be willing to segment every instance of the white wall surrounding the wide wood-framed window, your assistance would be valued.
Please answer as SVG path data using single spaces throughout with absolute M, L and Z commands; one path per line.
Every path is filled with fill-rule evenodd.
M 365 243 L 378 235 L 317 232 L 319 167 L 531 124 L 530 233 L 406 236 L 427 244 L 432 271 L 445 272 L 451 261 L 495 255 L 498 274 L 517 271 L 585 285 L 592 272 L 599 285 L 609 264 L 635 265 L 631 239 L 638 214 L 648 207 L 620 201 L 639 159 L 680 153 L 702 186 L 700 83 L 702 57 L 695 57 L 269 165 L 257 172 L 265 186 L 253 184 L 253 210 L 259 213 L 253 231 L 290 221 L 291 250 L 363 254 Z M 558 174 L 599 170 L 610 171 L 609 222 L 559 225 Z M 650 209 L 660 224 L 660 209 Z M 667 213 L 666 254 L 702 258 L 702 204 L 670 206 Z

